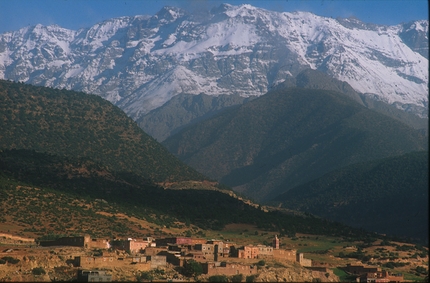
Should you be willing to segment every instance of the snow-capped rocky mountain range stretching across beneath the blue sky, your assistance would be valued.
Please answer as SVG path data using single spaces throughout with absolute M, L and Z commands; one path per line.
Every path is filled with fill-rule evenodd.
M 97 94 L 137 119 L 179 93 L 263 95 L 306 68 L 427 117 L 428 20 L 395 26 L 223 4 L 0 35 L 0 78 Z

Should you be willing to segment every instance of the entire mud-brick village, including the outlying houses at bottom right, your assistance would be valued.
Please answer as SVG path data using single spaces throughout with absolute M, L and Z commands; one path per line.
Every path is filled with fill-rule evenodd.
M 0 233 L 1 236 L 1 233 Z M 8 235 L 3 235 L 8 236 Z M 16 237 L 15 237 L 16 238 Z M 35 242 L 34 239 L 18 237 L 19 242 L 31 240 L 30 247 L 70 247 L 78 248 L 74 256 L 67 260 L 77 268 L 77 281 L 112 281 L 109 270 L 123 268 L 139 272 L 183 267 L 190 260 L 201 264 L 206 276 L 258 275 L 259 261 L 289 261 L 299 264 L 312 273 L 332 273 L 327 267 L 313 266 L 312 260 L 294 249 L 281 249 L 279 238 L 274 237 L 271 246 L 240 245 L 230 241 L 206 240 L 190 237 L 170 237 L 142 239 L 94 239 L 90 236 L 62 237 L 52 241 Z M 8 252 L 8 251 L 6 251 Z M 84 255 L 85 254 L 85 255 Z M 403 282 L 402 275 L 391 275 L 379 267 L 364 267 L 348 264 L 343 268 L 357 277 L 357 282 Z M 107 271 L 107 272 L 106 272 Z

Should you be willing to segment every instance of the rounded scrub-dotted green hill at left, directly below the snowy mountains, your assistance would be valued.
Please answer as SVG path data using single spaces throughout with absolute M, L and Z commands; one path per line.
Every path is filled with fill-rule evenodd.
M 0 149 L 86 157 L 155 182 L 205 177 L 99 96 L 0 81 Z

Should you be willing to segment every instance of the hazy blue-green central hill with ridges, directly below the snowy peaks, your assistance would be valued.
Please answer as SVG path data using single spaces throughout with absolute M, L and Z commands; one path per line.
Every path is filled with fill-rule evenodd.
M 427 149 L 428 136 L 342 93 L 287 88 L 163 144 L 201 173 L 264 201 L 349 164 Z

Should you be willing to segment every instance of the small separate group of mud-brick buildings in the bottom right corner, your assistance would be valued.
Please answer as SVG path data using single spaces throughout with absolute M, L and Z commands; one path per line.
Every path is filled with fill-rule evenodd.
M 346 272 L 357 275 L 357 282 L 403 282 L 403 274 L 389 274 L 380 267 L 347 264 Z

